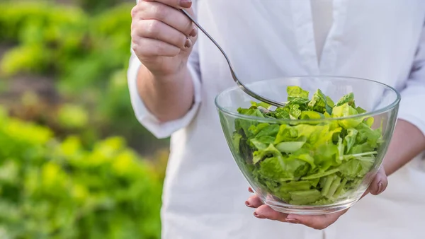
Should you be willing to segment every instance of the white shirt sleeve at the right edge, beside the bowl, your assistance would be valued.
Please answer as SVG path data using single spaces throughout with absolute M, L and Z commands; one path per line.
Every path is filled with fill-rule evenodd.
M 400 93 L 399 119 L 414 124 L 425 134 L 425 28 L 421 33 L 412 71 Z

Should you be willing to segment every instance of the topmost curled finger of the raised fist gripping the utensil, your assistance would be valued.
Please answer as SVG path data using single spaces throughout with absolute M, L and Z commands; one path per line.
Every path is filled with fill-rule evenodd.
M 140 19 L 162 21 L 172 28 L 179 30 L 184 35 L 191 37 L 195 37 L 198 33 L 192 21 L 176 8 L 160 4 L 156 1 L 145 1 L 145 4 L 140 4 L 140 8 L 142 8 L 142 11 L 137 15 L 140 16 Z M 193 12 L 191 9 L 190 11 Z

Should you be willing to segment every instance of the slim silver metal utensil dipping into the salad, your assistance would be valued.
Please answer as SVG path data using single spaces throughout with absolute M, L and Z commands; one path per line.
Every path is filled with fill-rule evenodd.
M 222 49 L 222 47 L 220 47 L 220 45 L 218 45 L 218 43 L 207 33 L 207 31 L 205 29 L 203 29 L 203 27 L 201 27 L 199 25 L 199 23 L 192 18 L 191 14 L 189 14 L 186 10 L 181 9 L 181 11 L 189 18 L 191 19 L 191 21 L 208 37 L 210 38 L 210 40 L 217 46 L 218 49 L 220 49 L 220 52 L 222 52 L 223 56 L 225 56 L 225 59 L 227 61 L 227 64 L 229 64 L 229 68 L 230 68 L 230 72 L 232 73 L 232 77 L 234 79 L 234 82 L 237 83 L 237 85 L 239 86 L 239 88 L 241 88 L 242 91 L 244 91 L 246 94 L 248 94 L 249 96 L 251 96 L 252 98 L 255 98 L 257 100 L 260 100 L 264 103 L 268 103 L 270 105 L 274 105 L 276 107 L 284 107 L 285 104 L 283 103 L 279 103 L 275 100 L 270 100 L 268 98 L 265 98 L 261 95 L 257 95 L 256 93 L 252 92 L 251 90 L 249 90 L 249 88 L 246 88 L 246 86 L 244 85 L 244 83 L 242 83 L 241 81 L 239 81 L 239 78 L 237 78 L 236 73 L 234 72 L 233 66 L 230 63 L 229 57 L 227 57 L 227 54 L 225 53 L 225 51 Z

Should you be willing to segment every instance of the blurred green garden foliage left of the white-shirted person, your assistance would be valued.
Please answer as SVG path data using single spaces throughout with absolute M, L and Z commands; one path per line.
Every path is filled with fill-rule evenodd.
M 132 6 L 0 0 L 0 238 L 159 238 L 168 141 L 130 105 Z

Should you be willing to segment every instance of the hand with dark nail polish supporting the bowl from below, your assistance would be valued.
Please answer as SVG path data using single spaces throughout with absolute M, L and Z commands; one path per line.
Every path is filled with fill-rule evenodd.
M 373 182 L 370 184 L 368 190 L 363 194 L 362 198 L 369 192 L 374 195 L 378 195 L 384 192 L 385 188 L 388 185 L 387 175 L 385 174 L 384 168 L 378 170 L 377 175 L 373 179 Z M 253 192 L 249 188 L 249 192 Z M 269 219 L 273 221 L 281 221 L 284 223 L 295 223 L 295 224 L 304 224 L 310 228 L 317 230 L 322 230 L 331 226 L 340 216 L 346 213 L 348 209 L 344 211 L 339 211 L 334 214 L 326 214 L 319 216 L 302 216 L 295 214 L 283 214 L 278 211 L 274 211 L 270 206 L 267 206 L 261 202 L 261 199 L 256 195 L 249 197 L 248 201 L 245 202 L 246 206 L 255 208 L 254 216 L 261 219 Z

